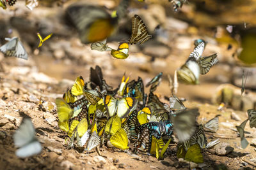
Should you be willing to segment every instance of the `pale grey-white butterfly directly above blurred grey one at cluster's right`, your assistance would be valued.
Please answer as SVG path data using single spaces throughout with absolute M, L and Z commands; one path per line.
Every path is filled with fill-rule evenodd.
M 170 106 L 168 106 L 168 104 L 164 104 L 164 108 L 169 112 L 174 111 L 175 113 L 179 113 L 180 111 L 186 110 L 186 107 L 184 106 L 182 101 L 180 101 L 180 99 L 175 95 L 169 98 L 169 102 Z

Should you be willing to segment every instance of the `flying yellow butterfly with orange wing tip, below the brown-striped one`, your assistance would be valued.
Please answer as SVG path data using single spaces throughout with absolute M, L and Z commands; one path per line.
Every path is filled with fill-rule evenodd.
M 127 59 L 129 56 L 129 45 L 126 42 L 121 42 L 117 50 L 112 49 L 111 55 L 116 59 Z

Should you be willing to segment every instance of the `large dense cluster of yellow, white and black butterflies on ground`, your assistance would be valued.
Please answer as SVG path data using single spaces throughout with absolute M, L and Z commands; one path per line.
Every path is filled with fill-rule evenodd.
M 133 143 L 132 152 L 163 159 L 175 131 L 179 139 L 178 156 L 186 153 L 186 160 L 204 161 L 201 148 L 211 148 L 219 142 L 207 143 L 204 129 L 216 132 L 218 117 L 204 127 L 196 126 L 197 108 L 186 108 L 176 96 L 170 97 L 170 105 L 162 103 L 154 94 L 162 75 L 159 73 L 147 83 L 148 95 L 140 77 L 129 81 L 124 75 L 120 85 L 113 89 L 104 80 L 99 66 L 91 67 L 90 81 L 77 77 L 72 88 L 56 99 L 58 125 L 67 134 L 67 148 L 87 152 L 96 148 L 99 153 L 99 147 L 106 143 L 121 150 L 127 150 Z M 195 150 L 200 160 L 192 157 Z

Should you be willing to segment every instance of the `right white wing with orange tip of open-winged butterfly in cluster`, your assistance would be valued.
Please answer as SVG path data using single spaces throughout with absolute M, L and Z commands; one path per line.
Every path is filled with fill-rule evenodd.
M 120 118 L 125 118 L 136 109 L 138 100 L 134 97 L 124 97 L 118 100 L 116 114 Z

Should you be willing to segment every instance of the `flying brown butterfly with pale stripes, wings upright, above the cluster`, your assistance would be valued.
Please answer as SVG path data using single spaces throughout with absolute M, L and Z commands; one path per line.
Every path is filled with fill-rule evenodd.
M 152 36 L 148 34 L 148 29 L 143 20 L 138 15 L 134 15 L 132 17 L 132 34 L 129 43 L 132 45 L 139 42 L 141 45 L 150 38 Z

